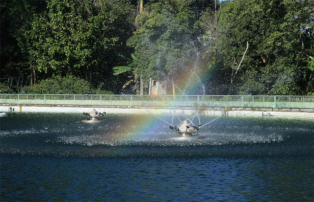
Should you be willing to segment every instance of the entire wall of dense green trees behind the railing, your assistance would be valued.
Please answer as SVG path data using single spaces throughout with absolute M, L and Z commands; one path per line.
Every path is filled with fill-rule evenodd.
M 188 88 L 197 85 L 314 94 L 313 0 L 3 0 L 0 9 L 0 78 L 24 76 L 28 92 L 56 93 L 36 89 L 64 77 L 90 85 L 71 93 L 145 94 L 153 78 L 169 94 L 199 94 Z

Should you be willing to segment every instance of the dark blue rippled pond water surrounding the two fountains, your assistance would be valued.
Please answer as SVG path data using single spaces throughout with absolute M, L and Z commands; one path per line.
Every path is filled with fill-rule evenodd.
M 152 115 L 82 119 L 0 119 L 1 202 L 314 200 L 313 119 L 223 116 L 185 141 Z

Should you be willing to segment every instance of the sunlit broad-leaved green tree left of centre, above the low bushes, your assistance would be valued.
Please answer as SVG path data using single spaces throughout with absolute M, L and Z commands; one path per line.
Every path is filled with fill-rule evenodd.
M 39 33 L 48 29 L 38 44 L 40 51 L 35 52 L 38 69 L 53 69 L 57 74 L 72 72 L 87 80 L 98 76 L 99 70 L 106 68 L 105 55 L 122 43 L 119 36 L 123 28 L 119 30 L 118 26 L 123 26 L 125 18 L 128 20 L 128 6 L 118 0 L 99 4 L 87 0 L 49 1 L 46 22 L 35 24 Z

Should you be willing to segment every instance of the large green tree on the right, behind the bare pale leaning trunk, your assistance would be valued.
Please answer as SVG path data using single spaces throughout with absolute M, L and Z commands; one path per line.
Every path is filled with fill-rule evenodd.
M 307 55 L 313 51 L 310 3 L 236 0 L 223 4 L 220 30 L 224 67 L 219 74 L 225 78 L 228 93 L 306 94 L 311 75 Z M 282 82 L 285 78 L 287 81 Z

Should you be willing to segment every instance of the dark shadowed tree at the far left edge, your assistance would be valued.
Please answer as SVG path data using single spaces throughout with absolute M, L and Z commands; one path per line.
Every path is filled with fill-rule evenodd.
M 36 83 L 38 73 L 33 51 L 32 22 L 46 9 L 45 1 L 3 0 L 1 9 L 1 76 L 24 76 L 26 83 Z

